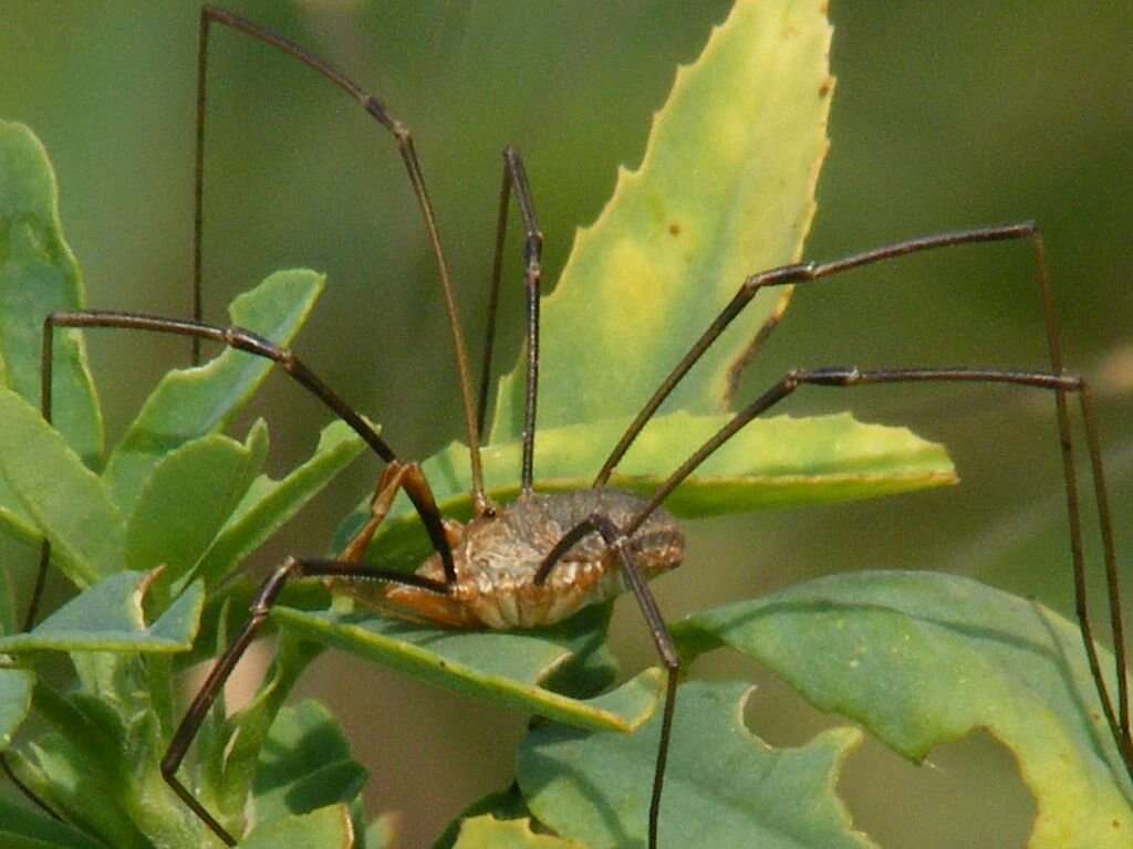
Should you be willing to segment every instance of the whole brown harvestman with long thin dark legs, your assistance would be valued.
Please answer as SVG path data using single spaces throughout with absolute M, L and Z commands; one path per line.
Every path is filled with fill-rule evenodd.
M 452 336 L 471 462 L 474 515 L 467 524 L 461 525 L 444 518 L 437 509 L 428 481 L 420 466 L 414 462 L 402 462 L 366 420 L 310 371 L 295 353 L 242 328 L 215 326 L 201 320 L 205 80 L 208 33 L 210 26 L 214 23 L 231 27 L 254 40 L 278 48 L 283 53 L 317 71 L 350 95 L 392 135 L 397 143 L 412 183 L 414 194 L 420 206 L 428 241 L 437 264 Z M 323 578 L 332 586 L 359 595 L 386 612 L 451 628 L 539 627 L 565 619 L 585 606 L 604 601 L 625 590 L 632 592 L 653 635 L 657 654 L 667 676 L 648 822 L 649 847 L 656 849 L 665 762 L 672 736 L 681 660 L 647 582 L 678 566 L 684 546 L 679 526 L 662 509 L 662 504 L 713 452 L 748 422 L 778 404 L 800 386 L 852 387 L 868 384 L 968 381 L 1011 384 L 1054 392 L 1066 486 L 1076 612 L 1106 720 L 1114 739 L 1117 741 L 1122 760 L 1130 774 L 1133 775 L 1133 739 L 1131 739 L 1130 734 L 1125 646 L 1101 455 L 1085 381 L 1063 369 L 1043 242 L 1034 224 L 1022 223 L 939 233 L 880 247 L 830 263 L 794 264 L 751 275 L 743 281 L 731 302 L 721 310 L 700 338 L 689 349 L 683 359 L 672 369 L 642 406 L 598 471 L 591 488 L 571 494 L 539 495 L 534 491 L 533 481 L 535 419 L 538 400 L 543 237 L 536 221 L 531 191 L 519 153 L 509 147 L 503 154 L 503 185 L 500 194 L 500 216 L 492 271 L 489 321 L 477 409 L 472 401 L 468 355 L 457 317 L 449 268 L 441 247 L 441 238 L 428 192 L 425 189 L 420 165 L 414 151 L 412 137 L 404 125 L 393 117 L 381 100 L 367 94 L 346 76 L 310 55 L 298 44 L 223 9 L 207 6 L 202 9 L 197 70 L 194 319 L 182 320 L 103 310 L 56 312 L 49 316 L 44 324 L 42 363 L 42 411 L 44 418 L 48 421 L 51 420 L 51 357 L 52 334 L 56 327 L 118 327 L 179 334 L 193 338 L 194 363 L 199 362 L 201 340 L 219 342 L 279 363 L 288 375 L 346 421 L 386 463 L 370 501 L 369 518 L 347 544 L 341 559 L 289 557 L 263 583 L 252 604 L 250 620 L 215 664 L 201 692 L 193 700 L 162 760 L 161 769 L 165 780 L 184 799 L 185 804 L 223 842 L 233 846 L 236 840 L 180 782 L 177 778 L 178 767 L 206 712 L 221 692 L 233 667 L 256 636 L 284 584 L 292 578 Z M 523 285 L 527 301 L 527 374 L 520 495 L 514 503 L 500 506 L 494 504 L 484 491 L 479 434 L 483 430 L 487 401 L 501 259 L 509 204 L 512 197 L 519 207 L 526 233 Z M 957 245 L 1015 240 L 1029 241 L 1032 247 L 1034 275 L 1046 323 L 1050 371 L 982 368 L 859 370 L 853 367 L 825 367 L 794 369 L 786 372 L 769 389 L 735 413 L 731 421 L 693 452 L 650 498 L 640 498 L 607 487 L 610 477 L 617 468 L 619 462 L 661 404 L 760 290 L 789 284 L 816 283 L 851 268 L 893 259 L 906 254 Z M 1094 482 L 1094 496 L 1099 505 L 1100 533 L 1109 593 L 1110 627 L 1116 655 L 1118 692 L 1116 711 L 1101 672 L 1088 612 L 1079 494 L 1066 403 L 1067 393 L 1076 394 L 1081 404 Z M 434 549 L 434 552 L 414 574 L 373 568 L 361 563 L 367 544 L 384 520 L 399 490 L 403 490 L 412 501 Z M 49 559 L 50 551 L 44 544 L 41 552 L 40 573 L 28 609 L 27 627 L 35 620 L 43 574 Z

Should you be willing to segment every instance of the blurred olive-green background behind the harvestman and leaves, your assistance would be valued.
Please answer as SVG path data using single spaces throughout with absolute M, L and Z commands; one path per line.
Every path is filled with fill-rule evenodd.
M 639 161 L 674 65 L 696 57 L 730 2 L 229 6 L 331 60 L 412 128 L 475 345 L 500 151 L 514 143 L 525 154 L 553 281 L 573 229 L 602 208 L 617 164 Z M 808 257 L 1039 221 L 1068 362 L 1097 385 L 1128 575 L 1133 5 L 841 0 L 832 17 L 833 146 Z M 196 25 L 191 2 L 0 3 L 0 115 L 31 125 L 48 146 L 91 306 L 188 311 Z M 325 271 L 329 291 L 298 346 L 308 362 L 382 421 L 403 456 L 459 436 L 435 273 L 390 139 L 310 71 L 228 31 L 215 33 L 210 80 L 207 316 L 220 320 L 232 295 L 275 268 Z M 800 292 L 746 386 L 757 392 L 792 366 L 1041 368 L 1029 257 L 1017 245 L 965 248 Z M 516 291 L 503 316 L 500 362 L 510 367 Z M 162 371 L 187 357 L 184 340 L 123 334 L 97 334 L 91 349 L 112 435 Z M 852 406 L 867 420 L 909 423 L 949 446 L 963 482 L 871 504 L 700 522 L 690 529 L 685 566 L 656 586 L 671 618 L 875 567 L 969 574 L 1070 614 L 1050 398 L 889 387 L 802 393 L 791 403 L 795 412 Z M 326 420 L 279 376 L 256 413 L 271 421 L 276 468 L 308 452 Z M 376 468 L 360 461 L 258 567 L 283 551 L 323 552 Z M 1097 572 L 1092 537 L 1089 543 Z M 10 544 L 0 552 L 22 568 L 33 560 Z M 632 601 L 621 602 L 615 632 L 628 669 L 650 662 Z M 722 657 L 698 671 L 757 680 L 749 722 L 772 743 L 799 743 L 840 721 L 817 715 L 750 663 Z M 369 809 L 400 812 L 401 846 L 425 843 L 467 801 L 510 780 L 522 715 L 332 653 L 303 691 L 343 718 L 373 771 Z M 915 767 L 879 746 L 857 754 L 841 790 L 858 826 L 886 847 L 1024 842 L 1032 803 L 1006 749 L 970 739 L 940 747 L 930 762 Z

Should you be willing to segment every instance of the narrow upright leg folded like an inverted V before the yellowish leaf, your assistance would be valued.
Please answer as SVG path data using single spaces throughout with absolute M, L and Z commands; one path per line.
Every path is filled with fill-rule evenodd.
M 527 294 L 527 386 L 523 394 L 523 465 L 522 491 L 531 491 L 535 474 L 535 412 L 539 386 L 539 282 L 543 276 L 543 233 L 535 217 L 535 201 L 527 182 L 527 170 L 519 151 L 509 145 L 503 152 L 503 185 L 500 188 L 500 218 L 496 223 L 495 255 L 492 259 L 492 288 L 488 293 L 488 320 L 484 341 L 484 363 L 480 368 L 477 428 L 484 432 L 488 388 L 492 385 L 492 352 L 495 345 L 495 317 L 500 301 L 500 272 L 503 246 L 508 237 L 508 201 L 514 192 L 523 218 L 523 290 Z

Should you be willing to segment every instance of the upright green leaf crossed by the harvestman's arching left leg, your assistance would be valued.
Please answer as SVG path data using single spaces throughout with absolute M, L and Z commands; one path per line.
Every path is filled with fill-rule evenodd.
M 287 345 L 310 314 L 324 280 L 308 271 L 276 272 L 232 301 L 232 324 Z M 134 509 L 163 456 L 231 422 L 272 365 L 263 357 L 227 349 L 201 368 L 165 375 L 111 453 L 103 473 L 122 511 Z

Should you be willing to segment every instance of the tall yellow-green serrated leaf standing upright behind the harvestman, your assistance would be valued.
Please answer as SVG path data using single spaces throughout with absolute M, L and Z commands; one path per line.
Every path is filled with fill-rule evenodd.
M 621 171 L 543 301 L 542 426 L 632 415 L 748 275 L 798 259 L 828 144 L 821 7 L 738 2 L 678 71 L 641 168 Z M 783 292 L 759 295 L 668 409 L 723 410 L 730 370 L 784 307 Z M 501 381 L 493 443 L 520 432 L 522 363 Z

